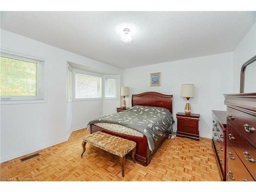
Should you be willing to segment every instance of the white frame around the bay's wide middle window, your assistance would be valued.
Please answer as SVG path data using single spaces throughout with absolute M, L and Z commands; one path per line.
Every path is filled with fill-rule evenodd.
M 95 77 L 100 77 L 101 78 L 101 90 L 100 90 L 100 97 L 92 97 L 92 98 L 76 98 L 76 80 L 75 80 L 75 76 L 76 74 L 82 74 L 82 75 L 90 75 L 90 76 L 95 76 Z M 97 74 L 97 73 L 91 73 L 91 72 L 87 72 L 87 71 L 83 71 L 83 70 L 78 70 L 78 69 L 74 69 L 73 70 L 73 78 L 72 78 L 72 96 L 74 101 L 78 101 L 78 100 L 101 100 L 102 99 L 102 95 L 103 95 L 103 89 L 102 86 L 103 85 L 103 76 L 101 74 Z

